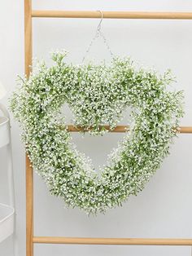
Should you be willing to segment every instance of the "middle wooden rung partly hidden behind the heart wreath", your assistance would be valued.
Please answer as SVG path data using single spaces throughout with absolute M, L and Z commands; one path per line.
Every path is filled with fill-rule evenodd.
M 110 132 L 126 132 L 127 130 L 129 130 L 129 126 L 116 126 L 116 128 L 113 130 L 110 130 L 109 126 L 104 126 L 104 127 L 106 130 L 109 130 Z M 61 129 L 62 129 L 62 126 L 61 126 Z M 68 125 L 68 131 L 70 131 L 70 132 L 78 132 L 78 131 L 86 132 L 89 130 L 91 130 L 91 127 L 88 130 L 85 130 L 82 127 Z M 181 134 L 191 134 L 192 126 L 180 126 L 180 127 L 175 128 L 175 130 L 177 130 L 177 132 L 181 133 Z

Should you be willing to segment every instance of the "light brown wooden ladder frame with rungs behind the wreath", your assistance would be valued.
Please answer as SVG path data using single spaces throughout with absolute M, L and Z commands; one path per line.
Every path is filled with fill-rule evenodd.
M 32 20 L 41 18 L 100 18 L 99 11 L 37 11 L 32 10 L 32 0 L 24 0 L 24 66 L 29 76 L 32 64 Z M 192 20 L 192 12 L 129 12 L 103 11 L 107 19 L 177 19 Z M 108 126 L 106 126 L 108 129 Z M 117 126 L 114 132 L 124 132 L 128 126 Z M 192 133 L 192 126 L 175 128 L 180 133 Z M 68 126 L 68 130 L 82 130 Z M 74 245 L 192 245 L 192 239 L 166 238 L 86 238 L 86 237 L 51 237 L 33 235 L 33 168 L 26 156 L 26 256 L 33 256 L 33 245 L 74 244 Z

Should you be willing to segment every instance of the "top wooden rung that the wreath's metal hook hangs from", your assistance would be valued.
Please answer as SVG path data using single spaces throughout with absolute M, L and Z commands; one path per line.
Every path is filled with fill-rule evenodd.
M 33 18 L 101 18 L 100 11 L 33 10 Z M 103 11 L 104 19 L 191 20 L 192 12 Z

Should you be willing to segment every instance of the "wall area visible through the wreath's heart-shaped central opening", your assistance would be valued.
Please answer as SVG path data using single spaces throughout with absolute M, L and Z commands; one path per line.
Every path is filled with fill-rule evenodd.
M 62 115 L 65 117 L 66 124 L 72 124 L 74 119 L 72 110 L 67 104 L 62 108 Z M 127 108 L 122 113 L 122 120 L 118 125 L 129 126 L 131 123 L 131 108 Z M 108 125 L 108 124 L 106 124 Z M 121 142 L 127 133 L 111 133 L 107 132 L 102 135 L 90 135 L 88 132 L 72 132 L 72 143 L 76 145 L 76 149 L 79 152 L 85 154 L 86 157 L 91 159 L 93 168 L 95 171 L 103 170 L 103 166 L 107 165 L 107 157 L 114 148 L 117 148 L 117 144 Z

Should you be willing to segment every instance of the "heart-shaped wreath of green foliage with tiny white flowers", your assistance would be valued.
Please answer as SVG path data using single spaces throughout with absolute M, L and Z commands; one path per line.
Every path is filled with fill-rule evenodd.
M 183 115 L 182 91 L 166 90 L 170 73 L 133 67 L 129 59 L 110 65 L 72 65 L 55 52 L 55 65 L 38 64 L 11 97 L 11 110 L 20 121 L 26 151 L 50 192 L 68 206 L 86 213 L 105 212 L 137 195 L 168 155 L 169 144 Z M 122 111 L 132 107 L 133 122 L 103 171 L 94 171 L 78 152 L 61 115 L 67 103 L 76 126 L 103 135 L 116 127 Z M 61 123 L 63 124 L 61 126 Z M 103 129 L 101 129 L 101 126 Z

